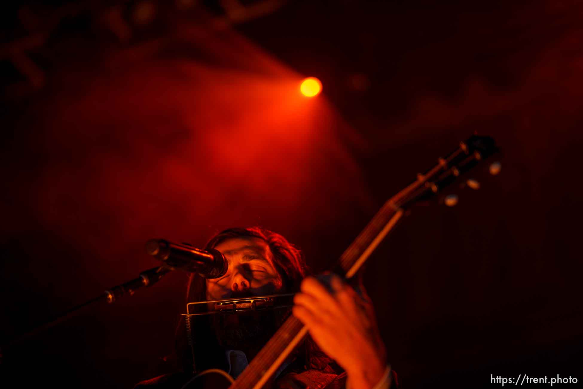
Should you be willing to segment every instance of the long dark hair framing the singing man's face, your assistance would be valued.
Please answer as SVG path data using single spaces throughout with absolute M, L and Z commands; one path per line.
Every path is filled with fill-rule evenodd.
M 282 235 L 264 229 L 262 227 L 248 227 L 248 228 L 231 228 L 224 230 L 213 236 L 205 246 L 205 249 L 215 248 L 217 245 L 228 239 L 234 238 L 259 238 L 268 244 L 273 257 L 273 267 L 278 271 L 282 277 L 283 290 L 287 293 L 296 292 L 300 288 L 301 281 L 306 275 L 310 273 L 310 269 L 305 263 L 303 253 L 289 243 Z M 206 300 L 206 282 L 205 279 L 199 275 L 192 274 L 187 286 L 187 302 L 198 302 Z M 280 323 L 283 324 L 291 314 L 291 309 L 286 309 L 281 316 L 279 316 Z M 199 319 L 200 318 L 200 319 Z M 196 319 L 195 324 L 192 325 L 192 332 L 194 334 L 210 334 L 209 316 L 202 316 Z M 192 357 L 189 355 L 190 347 L 186 342 L 186 331 L 183 321 L 180 322 L 177 328 L 176 337 L 176 352 L 179 359 L 182 359 L 181 365 L 185 372 L 192 370 Z M 212 337 L 201 337 L 194 344 L 194 354 L 196 355 L 196 370 L 200 372 L 204 369 L 209 369 L 213 362 L 221 358 L 220 353 L 216 350 L 220 349 L 216 339 Z M 205 355 L 205 358 L 199 358 L 198 355 Z M 316 369 L 324 372 L 333 373 L 336 369 L 335 363 L 329 358 L 315 342 L 308 336 L 304 342 L 296 349 L 296 366 L 302 366 L 304 369 Z M 213 361 L 214 360 L 214 361 Z M 213 362 L 211 362 L 213 361 Z

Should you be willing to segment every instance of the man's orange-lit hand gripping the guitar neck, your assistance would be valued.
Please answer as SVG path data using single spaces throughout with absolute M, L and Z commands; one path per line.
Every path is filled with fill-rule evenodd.
M 372 388 L 387 369 L 372 310 L 367 314 L 362 298 L 338 276 L 332 275 L 331 286 L 333 295 L 315 278 L 304 279 L 293 314 L 322 351 L 346 370 L 352 389 Z

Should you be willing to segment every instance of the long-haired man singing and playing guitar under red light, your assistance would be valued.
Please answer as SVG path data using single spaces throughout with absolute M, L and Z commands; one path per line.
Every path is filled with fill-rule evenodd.
M 180 373 L 142 381 L 137 388 L 180 388 L 196 370 L 222 369 L 236 378 L 289 317 L 307 326 L 310 337 L 279 367 L 269 385 L 276 388 L 386 389 L 396 383 L 387 363 L 370 300 L 338 276 L 318 279 L 308 273 L 303 255 L 280 234 L 260 227 L 224 230 L 205 249 L 215 248 L 229 262 L 216 279 L 192 275 L 188 300 L 299 292 L 290 309 L 196 317 L 195 360 L 189 358 L 184 325 L 177 330 Z M 200 318 L 200 319 L 199 319 Z

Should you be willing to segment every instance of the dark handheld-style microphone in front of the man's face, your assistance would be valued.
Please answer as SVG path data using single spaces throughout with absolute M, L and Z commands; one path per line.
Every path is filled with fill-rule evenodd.
M 219 278 L 229 268 L 227 260 L 220 251 L 214 248 L 208 251 L 200 250 L 188 243 L 152 239 L 146 243 L 146 253 L 164 262 L 163 266 L 166 268 L 198 273 L 204 278 Z

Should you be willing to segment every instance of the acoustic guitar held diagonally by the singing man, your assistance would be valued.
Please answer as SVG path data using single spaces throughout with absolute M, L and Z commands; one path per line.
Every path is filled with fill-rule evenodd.
M 490 155 L 498 152 L 496 142 L 489 136 L 473 135 L 465 142 L 460 142 L 454 152 L 438 158 L 436 165 L 426 173 L 417 174 L 417 179 L 403 188 L 382 206 L 374 215 L 364 230 L 340 256 L 334 272 L 345 279 L 352 278 L 371 253 L 387 236 L 396 222 L 403 216 L 406 209 L 419 201 L 427 201 L 434 195 L 441 194 L 445 187 L 458 180 Z M 490 173 L 497 174 L 499 163 L 490 165 Z M 468 180 L 468 187 L 477 188 L 475 180 Z M 455 197 L 445 198 L 446 205 L 454 205 Z M 229 388 L 229 389 L 259 389 L 262 388 L 286 360 L 294 348 L 305 337 L 308 330 L 297 318 L 291 316 L 276 331 L 255 356 L 243 373 L 233 380 L 223 370 L 210 369 L 188 381 L 182 389 L 199 388 Z

